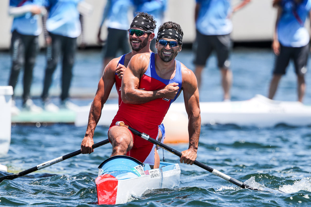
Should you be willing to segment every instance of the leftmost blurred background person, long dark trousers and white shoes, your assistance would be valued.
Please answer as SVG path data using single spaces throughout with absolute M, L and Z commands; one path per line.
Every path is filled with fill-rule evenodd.
M 30 97 L 30 87 L 33 77 L 35 59 L 39 51 L 38 36 L 42 31 L 38 24 L 40 15 L 46 12 L 43 7 L 44 0 L 10 0 L 9 15 L 13 16 L 11 56 L 12 67 L 9 85 L 16 87 L 18 75 L 24 67 L 23 77 L 23 110 L 41 111 Z M 12 113 L 16 114 L 19 109 L 15 105 L 13 94 Z

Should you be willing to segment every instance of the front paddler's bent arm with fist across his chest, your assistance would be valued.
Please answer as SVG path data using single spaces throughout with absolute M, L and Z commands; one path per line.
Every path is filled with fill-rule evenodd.
M 121 98 L 124 103 L 142 104 L 157 98 L 174 99 L 178 84 L 170 83 L 162 89 L 145 91 L 139 89 L 139 81 L 148 68 L 150 53 L 134 55 L 122 78 Z

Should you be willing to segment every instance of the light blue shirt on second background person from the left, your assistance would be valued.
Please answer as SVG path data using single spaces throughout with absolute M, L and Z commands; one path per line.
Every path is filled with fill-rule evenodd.
M 46 0 L 46 29 L 52 34 L 76 38 L 81 34 L 78 3 L 82 0 Z

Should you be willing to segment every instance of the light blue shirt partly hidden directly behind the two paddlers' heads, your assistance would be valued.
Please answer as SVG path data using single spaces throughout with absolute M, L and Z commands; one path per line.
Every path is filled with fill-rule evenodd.
M 134 1 L 135 2 L 135 1 Z M 152 15 L 156 20 L 155 38 L 157 38 L 158 28 L 163 23 L 164 12 L 167 8 L 167 0 L 146 0 L 137 3 L 136 11 L 144 11 Z

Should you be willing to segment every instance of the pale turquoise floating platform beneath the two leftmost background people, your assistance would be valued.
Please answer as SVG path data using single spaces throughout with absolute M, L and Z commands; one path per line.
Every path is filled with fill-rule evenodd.
M 68 109 L 60 109 L 58 112 L 43 110 L 42 112 L 21 111 L 18 115 L 12 115 L 12 123 L 68 123 L 73 124 L 76 112 Z

